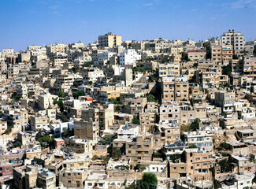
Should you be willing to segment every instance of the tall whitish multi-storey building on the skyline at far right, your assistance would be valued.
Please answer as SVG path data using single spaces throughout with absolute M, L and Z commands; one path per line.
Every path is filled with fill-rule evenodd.
M 245 41 L 241 32 L 229 30 L 221 35 L 221 45 L 232 45 L 234 50 L 243 50 Z

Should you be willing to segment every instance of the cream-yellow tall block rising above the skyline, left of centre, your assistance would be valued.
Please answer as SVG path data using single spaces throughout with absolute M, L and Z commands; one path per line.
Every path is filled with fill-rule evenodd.
M 101 47 L 116 47 L 120 46 L 122 43 L 122 35 L 114 35 L 112 32 L 109 32 L 105 35 L 98 36 L 98 46 Z

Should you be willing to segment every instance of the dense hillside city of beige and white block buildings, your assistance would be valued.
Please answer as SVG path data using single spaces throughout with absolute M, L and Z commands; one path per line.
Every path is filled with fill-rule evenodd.
M 0 70 L 1 188 L 256 188 L 256 40 L 240 31 L 9 48 Z

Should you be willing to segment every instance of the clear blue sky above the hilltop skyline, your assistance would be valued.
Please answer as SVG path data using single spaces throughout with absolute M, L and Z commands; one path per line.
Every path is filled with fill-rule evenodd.
M 256 39 L 256 0 L 1 0 L 0 17 L 0 50 L 90 43 L 108 31 L 198 41 L 235 29 Z

